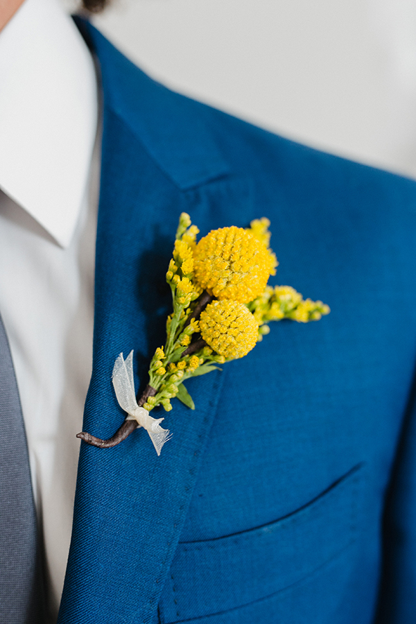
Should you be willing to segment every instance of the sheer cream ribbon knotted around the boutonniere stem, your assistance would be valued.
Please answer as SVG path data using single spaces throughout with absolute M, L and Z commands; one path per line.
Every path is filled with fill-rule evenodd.
M 170 439 L 168 429 L 162 429 L 159 423 L 164 418 L 152 418 L 148 410 L 137 405 L 135 393 L 135 381 L 133 379 L 133 352 L 130 351 L 128 357 L 124 360 L 123 354 L 114 362 L 112 372 L 112 383 L 116 392 L 117 401 L 125 412 L 128 413 L 128 420 L 137 420 L 139 427 L 146 429 L 150 435 L 150 440 L 156 449 L 157 455 L 167 440 Z

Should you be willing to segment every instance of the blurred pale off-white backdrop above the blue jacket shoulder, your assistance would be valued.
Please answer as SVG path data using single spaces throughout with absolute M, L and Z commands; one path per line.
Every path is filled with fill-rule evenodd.
M 93 21 L 179 92 L 416 178 L 416 0 L 113 0 Z

